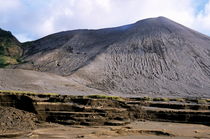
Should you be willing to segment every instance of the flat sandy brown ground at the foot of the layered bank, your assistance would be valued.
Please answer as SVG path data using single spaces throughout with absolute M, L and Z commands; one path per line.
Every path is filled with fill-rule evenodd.
M 45 123 L 31 132 L 22 134 L 19 132 L 16 135 L 13 132 L 13 136 L 8 137 L 16 139 L 209 139 L 210 127 L 151 121 L 133 122 L 116 127 L 64 126 Z

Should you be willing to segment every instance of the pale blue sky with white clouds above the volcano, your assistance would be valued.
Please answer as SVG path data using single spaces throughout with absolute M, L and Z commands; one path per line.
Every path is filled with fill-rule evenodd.
M 0 0 L 0 28 L 22 42 L 157 16 L 210 35 L 210 0 Z

